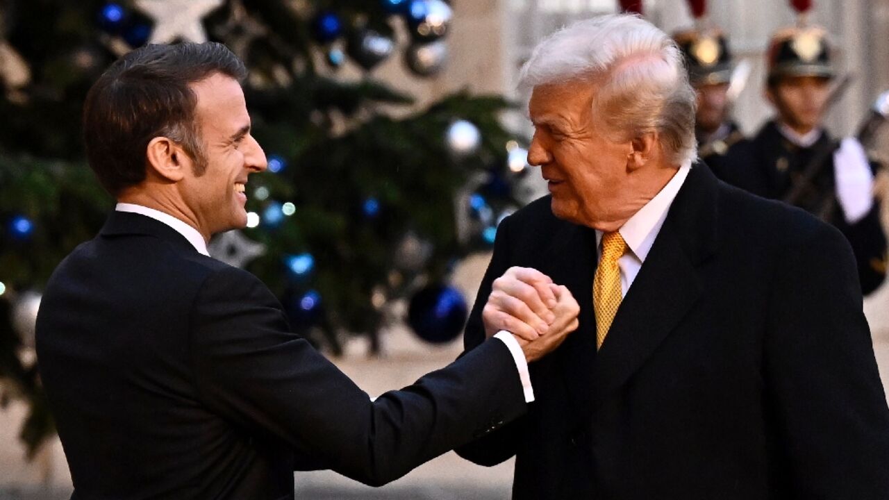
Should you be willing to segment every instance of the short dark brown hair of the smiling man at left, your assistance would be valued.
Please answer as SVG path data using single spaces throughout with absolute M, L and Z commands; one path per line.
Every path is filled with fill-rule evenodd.
M 84 103 L 84 143 L 92 171 L 116 196 L 145 180 L 146 149 L 155 137 L 179 143 L 207 167 L 188 85 L 221 73 L 242 81 L 244 63 L 223 44 L 150 44 L 126 54 L 99 77 Z

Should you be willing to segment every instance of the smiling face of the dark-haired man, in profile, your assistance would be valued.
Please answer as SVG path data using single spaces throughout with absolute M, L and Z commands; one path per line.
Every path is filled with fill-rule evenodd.
M 197 96 L 195 117 L 207 168 L 201 174 L 185 169 L 177 186 L 189 218 L 204 238 L 209 238 L 246 225 L 247 175 L 264 171 L 267 163 L 250 134 L 244 92 L 235 79 L 217 73 L 191 88 Z

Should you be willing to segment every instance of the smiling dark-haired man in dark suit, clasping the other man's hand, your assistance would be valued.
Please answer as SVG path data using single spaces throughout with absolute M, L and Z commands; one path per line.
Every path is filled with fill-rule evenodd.
M 119 203 L 55 270 L 36 325 L 74 498 L 292 498 L 308 468 L 383 484 L 524 413 L 526 362 L 576 327 L 571 294 L 541 286 L 535 340 L 499 335 L 369 399 L 257 278 L 207 255 L 266 169 L 242 77 L 220 44 L 148 45 L 87 97 L 90 165 Z

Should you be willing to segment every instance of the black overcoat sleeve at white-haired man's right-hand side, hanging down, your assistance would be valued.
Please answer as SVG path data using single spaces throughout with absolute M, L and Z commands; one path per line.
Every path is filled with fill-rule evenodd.
M 885 499 L 889 408 L 855 262 L 837 230 L 813 226 L 776 270 L 764 343 L 781 473 L 794 498 Z

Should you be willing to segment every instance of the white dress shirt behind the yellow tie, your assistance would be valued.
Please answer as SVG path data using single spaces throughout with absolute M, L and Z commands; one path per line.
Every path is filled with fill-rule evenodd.
M 667 212 L 673 199 L 676 198 L 679 188 L 685 183 L 685 178 L 691 171 L 692 165 L 685 164 L 679 167 L 673 178 L 667 185 L 645 204 L 636 214 L 633 214 L 627 222 L 624 222 L 619 232 L 629 246 L 629 252 L 618 259 L 617 265 L 621 269 L 621 297 L 627 296 L 629 286 L 633 284 L 642 269 L 645 257 L 654 245 L 654 238 L 661 232 L 661 226 L 667 219 Z M 596 230 L 597 258 L 602 256 L 602 231 Z

